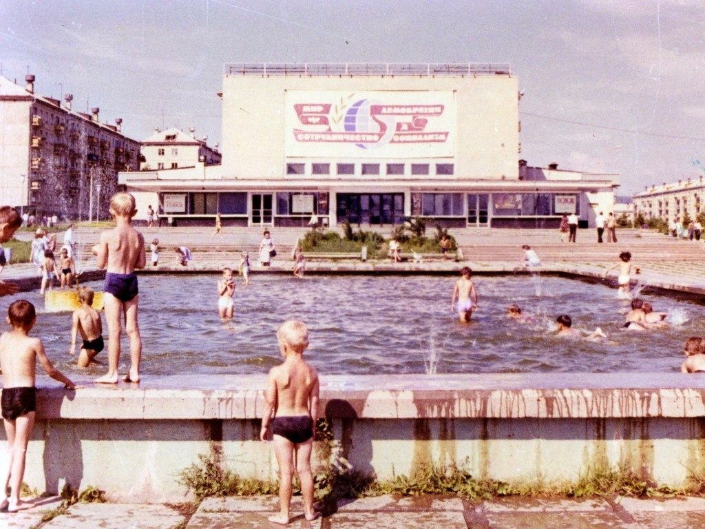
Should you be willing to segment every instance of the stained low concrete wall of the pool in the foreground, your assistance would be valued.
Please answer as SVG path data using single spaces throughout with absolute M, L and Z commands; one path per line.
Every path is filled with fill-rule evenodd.
M 180 472 L 222 450 L 243 476 L 276 478 L 259 442 L 264 377 L 165 377 L 41 388 L 25 482 L 120 501 L 183 501 Z M 624 465 L 677 486 L 705 466 L 705 378 L 680 373 L 326 376 L 322 454 L 379 478 L 458 463 L 477 478 L 576 480 Z M 209 389 L 217 384 L 218 389 Z

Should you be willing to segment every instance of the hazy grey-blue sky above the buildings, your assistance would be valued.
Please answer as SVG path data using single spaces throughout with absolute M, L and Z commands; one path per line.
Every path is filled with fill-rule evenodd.
M 0 72 L 143 140 L 221 140 L 224 63 L 510 63 L 529 166 L 705 176 L 701 0 L 2 0 Z

